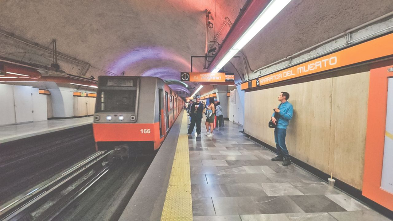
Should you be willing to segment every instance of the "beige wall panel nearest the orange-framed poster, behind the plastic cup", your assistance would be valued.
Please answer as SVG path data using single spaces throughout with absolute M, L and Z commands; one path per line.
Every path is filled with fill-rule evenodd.
M 334 176 L 358 189 L 363 182 L 369 76 L 362 72 L 333 78 L 329 165 Z

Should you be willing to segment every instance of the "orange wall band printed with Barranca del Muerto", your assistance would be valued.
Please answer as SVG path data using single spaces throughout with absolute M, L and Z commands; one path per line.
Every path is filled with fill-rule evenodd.
M 380 57 L 391 56 L 393 55 L 393 44 L 391 42 L 393 42 L 393 33 L 254 79 L 251 81 L 251 85 L 249 82 L 242 83 L 241 89 L 246 90 Z

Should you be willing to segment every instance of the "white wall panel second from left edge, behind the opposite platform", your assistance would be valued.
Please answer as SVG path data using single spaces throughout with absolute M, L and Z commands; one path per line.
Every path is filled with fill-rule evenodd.
M 17 123 L 33 121 L 31 87 L 14 85 L 15 116 Z

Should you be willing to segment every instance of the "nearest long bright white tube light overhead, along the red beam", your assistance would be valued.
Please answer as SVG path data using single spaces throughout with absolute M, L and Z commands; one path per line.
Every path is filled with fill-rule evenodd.
M 266 24 L 268 24 L 291 0 L 272 0 L 262 13 L 255 19 L 250 27 L 243 33 L 243 35 L 232 46 L 229 52 L 221 59 L 221 61 L 213 68 L 213 73 L 217 73 L 220 69 L 228 63 L 228 61 L 235 56 L 259 31 L 261 31 Z

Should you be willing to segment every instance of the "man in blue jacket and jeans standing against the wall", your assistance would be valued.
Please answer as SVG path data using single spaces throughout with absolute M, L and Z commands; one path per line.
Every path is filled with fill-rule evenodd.
M 294 114 L 294 107 L 288 102 L 288 99 L 288 92 L 281 92 L 278 96 L 278 101 L 281 103 L 278 105 L 278 108 L 274 109 L 274 113 L 272 115 L 272 122 L 276 125 L 274 129 L 274 141 L 275 147 L 277 148 L 277 157 L 272 158 L 272 160 L 284 161 L 282 164 L 283 166 L 292 164 L 288 149 L 286 149 L 285 145 L 286 127 L 288 127 L 289 120 L 292 119 Z M 278 119 L 274 117 L 275 113 L 278 114 Z

